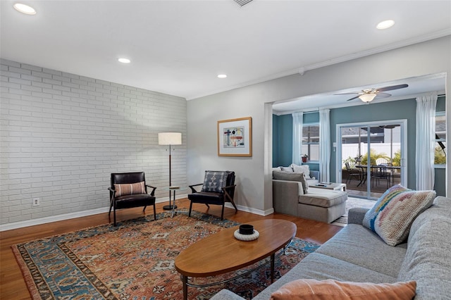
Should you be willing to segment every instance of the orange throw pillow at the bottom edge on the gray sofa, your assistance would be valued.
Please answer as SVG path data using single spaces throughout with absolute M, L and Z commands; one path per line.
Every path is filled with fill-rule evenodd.
M 288 282 L 271 294 L 271 300 L 404 300 L 413 299 L 416 282 L 371 283 L 300 279 Z

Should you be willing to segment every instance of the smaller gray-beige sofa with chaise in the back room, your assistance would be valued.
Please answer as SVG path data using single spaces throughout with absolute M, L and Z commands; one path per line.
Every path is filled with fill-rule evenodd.
M 346 212 L 347 193 L 330 189 L 309 187 L 304 192 L 302 183 L 288 178 L 292 173 L 273 171 L 273 208 L 276 213 L 295 215 L 299 218 L 331 223 Z M 319 178 L 319 171 L 310 171 L 310 176 Z M 318 180 L 307 180 L 314 185 Z

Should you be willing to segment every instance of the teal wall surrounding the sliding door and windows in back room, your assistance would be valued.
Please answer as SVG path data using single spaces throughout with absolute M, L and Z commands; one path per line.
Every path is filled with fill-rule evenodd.
M 445 96 L 440 96 L 437 101 L 436 111 L 445 111 Z M 292 163 L 292 116 L 274 115 L 273 130 L 273 167 L 290 165 Z M 380 120 L 407 119 L 407 187 L 415 189 L 415 144 L 416 144 L 416 100 L 406 99 L 393 102 L 371 103 L 361 106 L 334 108 L 330 110 L 330 145 L 336 141 L 335 132 L 337 124 L 364 123 Z M 275 126 L 274 124 L 277 123 Z M 319 113 L 304 114 L 304 123 L 319 123 Z M 273 131 L 273 132 L 274 132 Z M 277 139 L 275 138 L 277 136 Z M 336 181 L 336 157 L 335 151 L 330 149 L 330 180 Z M 317 163 L 309 163 L 311 170 L 319 170 Z M 435 169 L 435 191 L 438 195 L 445 196 L 445 169 Z

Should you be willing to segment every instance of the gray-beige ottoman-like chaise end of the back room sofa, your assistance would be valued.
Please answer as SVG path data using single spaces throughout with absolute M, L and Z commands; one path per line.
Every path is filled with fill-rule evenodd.
M 299 218 L 331 223 L 346 212 L 347 192 L 309 187 L 307 194 L 299 195 Z

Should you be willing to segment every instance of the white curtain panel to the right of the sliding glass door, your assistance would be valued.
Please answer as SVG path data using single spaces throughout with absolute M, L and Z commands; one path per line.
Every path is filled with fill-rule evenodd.
M 437 95 L 416 98 L 416 189 L 434 188 L 435 104 Z

